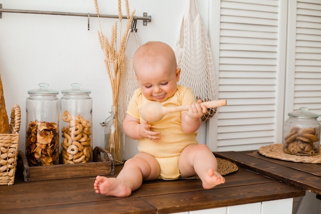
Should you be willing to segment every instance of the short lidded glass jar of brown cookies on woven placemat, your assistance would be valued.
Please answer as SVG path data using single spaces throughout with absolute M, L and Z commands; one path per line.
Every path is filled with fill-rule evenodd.
M 289 154 L 313 156 L 320 151 L 320 123 L 318 114 L 300 108 L 288 113 L 284 123 L 283 151 Z

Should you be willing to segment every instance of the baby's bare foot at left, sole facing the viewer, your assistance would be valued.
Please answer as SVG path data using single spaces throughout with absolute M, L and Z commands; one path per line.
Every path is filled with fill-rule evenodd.
M 105 194 L 105 196 L 126 197 L 131 194 L 130 187 L 123 181 L 103 176 L 96 177 L 94 189 L 96 193 Z

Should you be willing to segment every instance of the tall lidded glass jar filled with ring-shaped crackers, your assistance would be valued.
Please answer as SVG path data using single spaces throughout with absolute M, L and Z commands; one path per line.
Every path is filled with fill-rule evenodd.
M 62 90 L 61 153 L 64 164 L 92 161 L 92 99 L 90 90 L 73 83 Z

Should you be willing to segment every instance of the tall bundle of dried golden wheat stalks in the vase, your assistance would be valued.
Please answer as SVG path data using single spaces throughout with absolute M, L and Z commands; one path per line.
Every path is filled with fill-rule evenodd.
M 119 133 L 118 128 L 118 99 L 119 99 L 119 87 L 121 84 L 121 77 L 125 67 L 125 51 L 126 44 L 128 40 L 128 34 L 130 33 L 131 23 L 133 21 L 135 11 L 129 11 L 128 0 L 125 0 L 126 6 L 126 15 L 127 15 L 127 25 L 125 29 L 125 33 L 122 35 L 122 1 L 118 0 L 118 21 L 121 25 L 119 29 L 119 36 L 121 40 L 119 40 L 119 44 L 117 42 L 117 21 L 111 28 L 111 38 L 108 40 L 107 36 L 105 36 L 102 32 L 101 22 L 99 20 L 99 8 L 97 0 L 95 2 L 95 9 L 98 16 L 100 31 L 98 30 L 98 38 L 99 44 L 104 52 L 104 62 L 106 65 L 107 73 L 109 75 L 111 90 L 112 90 L 112 103 L 114 107 L 115 118 L 112 120 L 114 127 L 114 131 L 111 131 L 109 138 L 109 152 L 113 155 L 114 161 L 118 164 L 123 163 L 122 157 L 122 145 L 121 145 L 121 135 Z

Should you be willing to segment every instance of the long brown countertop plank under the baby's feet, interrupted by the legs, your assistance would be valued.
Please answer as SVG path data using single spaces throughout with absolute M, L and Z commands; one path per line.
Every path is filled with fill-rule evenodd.
M 105 200 L 116 200 L 96 194 L 93 189 L 94 178 L 61 179 L 51 181 L 23 182 L 17 180 L 14 185 L 0 186 L 2 209 L 31 208 L 33 206 L 52 206 L 57 204 L 86 203 Z M 226 177 L 227 182 L 216 188 L 228 188 L 271 183 L 273 180 L 264 178 L 245 169 L 239 169 L 233 176 Z M 172 193 L 186 193 L 203 190 L 200 180 L 151 181 L 145 182 L 131 197 L 145 197 Z M 32 197 L 30 197 L 32 195 Z M 54 199 L 54 200 L 53 200 Z M 19 202 L 19 203 L 17 203 Z M 21 203 L 23 202 L 23 203 Z M 41 202 L 41 203 L 39 203 Z

